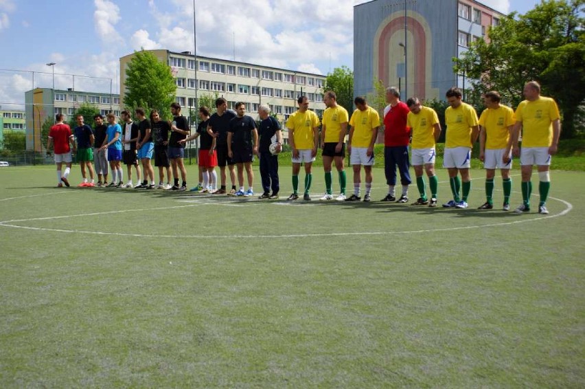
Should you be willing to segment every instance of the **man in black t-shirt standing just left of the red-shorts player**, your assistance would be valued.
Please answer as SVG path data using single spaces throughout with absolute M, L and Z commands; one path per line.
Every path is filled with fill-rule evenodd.
M 189 122 L 185 116 L 181 115 L 181 105 L 178 102 L 171 104 L 171 113 L 173 120 L 171 123 L 171 136 L 169 140 L 169 157 L 172 166 L 172 177 L 174 185 L 172 190 L 187 190 L 187 170 L 183 164 L 183 157 L 185 156 L 185 144 L 180 144 L 189 135 Z M 183 184 L 179 186 L 179 170 L 181 170 L 181 178 Z

